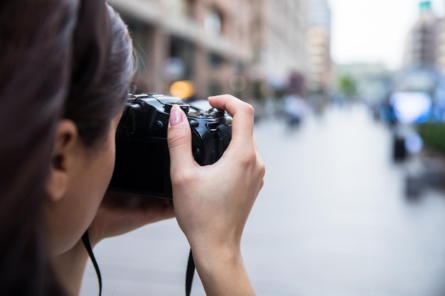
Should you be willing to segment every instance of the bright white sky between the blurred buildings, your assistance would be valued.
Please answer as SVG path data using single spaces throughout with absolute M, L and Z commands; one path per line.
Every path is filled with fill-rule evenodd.
M 402 62 L 409 28 L 420 0 L 329 0 L 332 11 L 332 56 L 340 64 L 382 62 L 392 69 Z M 431 1 L 438 16 L 445 0 Z

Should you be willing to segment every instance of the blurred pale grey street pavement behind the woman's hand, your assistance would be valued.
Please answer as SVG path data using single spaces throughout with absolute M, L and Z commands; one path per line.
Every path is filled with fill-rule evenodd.
M 258 295 L 445 295 L 445 195 L 404 197 L 391 132 L 365 107 L 263 119 L 256 137 L 267 173 L 242 252 Z M 184 295 L 188 251 L 174 219 L 103 241 L 102 295 Z M 97 292 L 89 262 L 80 295 Z

